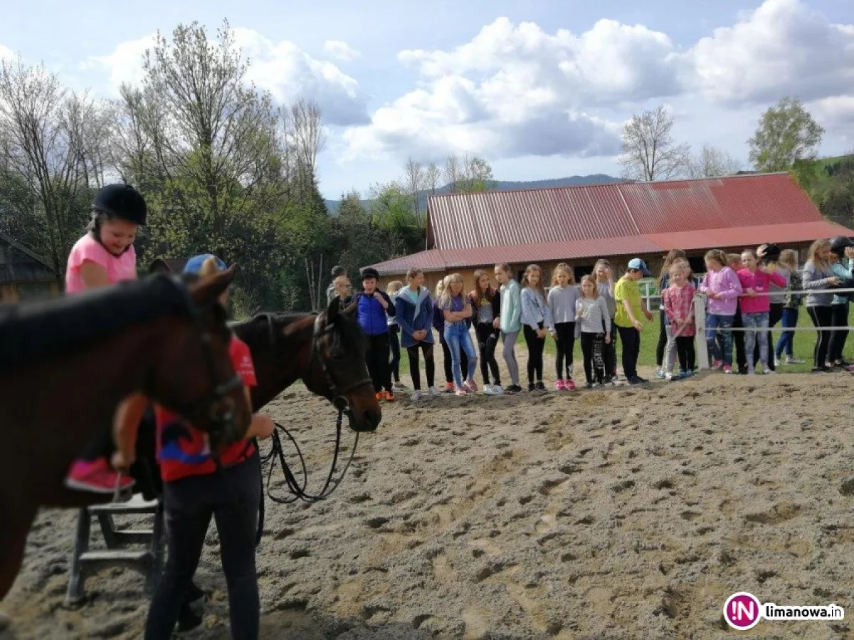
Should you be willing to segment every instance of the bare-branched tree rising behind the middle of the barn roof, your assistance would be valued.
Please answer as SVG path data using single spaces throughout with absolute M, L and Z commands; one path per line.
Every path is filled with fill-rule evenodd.
M 623 126 L 623 177 L 666 180 L 687 172 L 691 148 L 673 141 L 673 116 L 664 105 L 633 115 Z

